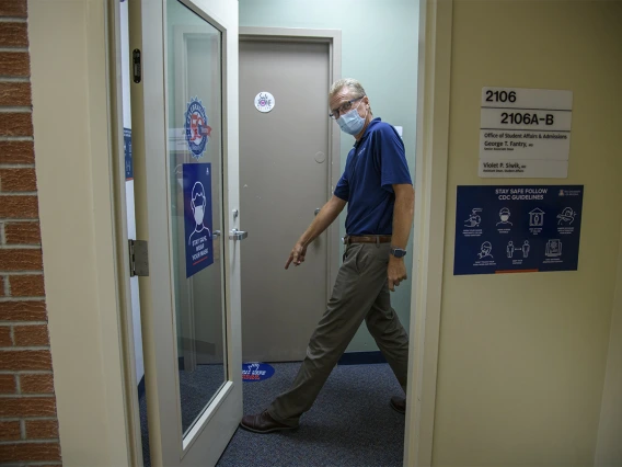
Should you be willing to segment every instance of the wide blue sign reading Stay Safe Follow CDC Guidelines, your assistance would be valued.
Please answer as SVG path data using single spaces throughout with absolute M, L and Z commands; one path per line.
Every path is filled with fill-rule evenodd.
M 458 186 L 453 274 L 576 271 L 583 185 Z

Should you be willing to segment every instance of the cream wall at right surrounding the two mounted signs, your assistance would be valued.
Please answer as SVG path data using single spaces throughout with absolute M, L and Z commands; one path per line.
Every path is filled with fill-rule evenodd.
M 622 217 L 621 23 L 620 2 L 453 2 L 434 465 L 594 463 Z M 567 180 L 479 179 L 485 86 L 574 92 Z M 457 185 L 502 183 L 585 184 L 578 271 L 452 275 Z

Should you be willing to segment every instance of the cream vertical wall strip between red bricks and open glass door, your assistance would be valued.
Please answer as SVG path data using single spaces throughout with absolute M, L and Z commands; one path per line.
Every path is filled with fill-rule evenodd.
M 64 466 L 126 466 L 106 3 L 28 1 L 33 123 Z

